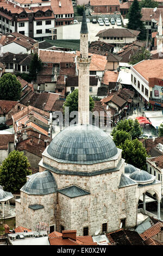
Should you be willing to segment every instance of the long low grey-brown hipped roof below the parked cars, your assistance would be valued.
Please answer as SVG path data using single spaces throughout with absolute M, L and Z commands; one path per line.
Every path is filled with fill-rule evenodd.
M 138 36 L 140 34 L 140 31 L 135 31 L 133 29 L 128 28 L 109 28 L 104 29 L 102 31 L 99 31 L 96 36 L 103 37 L 103 36 L 122 36 L 122 37 L 129 37 L 129 38 L 135 38 L 135 36 Z

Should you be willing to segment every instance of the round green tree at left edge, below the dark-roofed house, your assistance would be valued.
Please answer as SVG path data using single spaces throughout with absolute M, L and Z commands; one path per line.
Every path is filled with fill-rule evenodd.
M 21 92 L 21 83 L 15 75 L 7 73 L 0 78 L 0 100 L 20 100 Z

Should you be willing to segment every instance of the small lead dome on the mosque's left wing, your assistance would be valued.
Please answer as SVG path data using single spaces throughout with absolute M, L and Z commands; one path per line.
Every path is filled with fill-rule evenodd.
M 57 192 L 57 184 L 54 176 L 49 170 L 35 173 L 29 177 L 29 180 L 21 188 L 21 191 L 27 194 L 52 194 Z

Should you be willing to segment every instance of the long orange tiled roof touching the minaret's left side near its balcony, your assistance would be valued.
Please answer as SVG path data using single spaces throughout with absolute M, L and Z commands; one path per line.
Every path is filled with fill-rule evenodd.
M 39 57 L 43 63 L 74 63 L 76 55 L 69 52 L 39 50 Z

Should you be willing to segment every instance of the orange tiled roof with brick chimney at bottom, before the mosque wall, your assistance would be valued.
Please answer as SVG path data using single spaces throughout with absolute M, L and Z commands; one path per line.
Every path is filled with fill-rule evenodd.
M 62 230 L 62 233 L 53 231 L 48 237 L 50 245 L 97 245 L 92 236 L 77 236 L 77 230 Z

